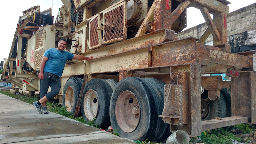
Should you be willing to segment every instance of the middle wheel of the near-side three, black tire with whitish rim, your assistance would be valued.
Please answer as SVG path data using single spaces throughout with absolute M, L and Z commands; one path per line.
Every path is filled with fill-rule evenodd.
M 90 92 L 96 94 L 95 98 Z M 87 123 L 94 119 L 94 123 L 98 124 L 99 128 L 106 129 L 110 126 L 109 102 L 112 92 L 108 82 L 103 79 L 92 79 L 86 83 L 82 95 L 81 112 Z M 93 107 L 95 105 L 97 109 Z

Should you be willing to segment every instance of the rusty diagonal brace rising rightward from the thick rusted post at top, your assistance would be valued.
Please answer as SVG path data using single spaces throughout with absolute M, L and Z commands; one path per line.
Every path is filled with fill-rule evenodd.
M 181 2 L 179 4 L 179 6 L 177 8 L 175 8 L 175 10 L 172 12 L 171 14 L 171 22 L 173 23 L 179 16 L 180 14 L 187 9 L 187 7 L 189 6 L 189 4 L 191 3 L 191 1 L 184 1 Z

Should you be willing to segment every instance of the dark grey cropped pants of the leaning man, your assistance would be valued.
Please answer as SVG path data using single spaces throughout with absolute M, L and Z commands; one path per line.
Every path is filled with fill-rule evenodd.
M 60 92 L 60 77 L 58 76 L 57 79 L 52 79 L 52 77 L 48 78 L 48 74 L 48 72 L 44 72 L 44 79 L 40 80 L 40 99 L 46 96 L 47 100 L 51 100 Z M 47 93 L 49 86 L 51 87 L 51 92 Z

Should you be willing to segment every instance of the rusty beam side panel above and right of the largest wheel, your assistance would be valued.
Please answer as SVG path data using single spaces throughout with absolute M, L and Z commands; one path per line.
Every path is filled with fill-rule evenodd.
M 175 40 L 153 45 L 152 66 L 196 63 L 196 40 Z

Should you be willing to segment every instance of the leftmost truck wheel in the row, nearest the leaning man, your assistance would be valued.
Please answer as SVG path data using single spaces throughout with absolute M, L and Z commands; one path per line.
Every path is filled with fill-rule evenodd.
M 81 78 L 71 77 L 64 86 L 62 103 L 66 110 L 74 114 L 76 110 L 77 99 L 81 90 Z

